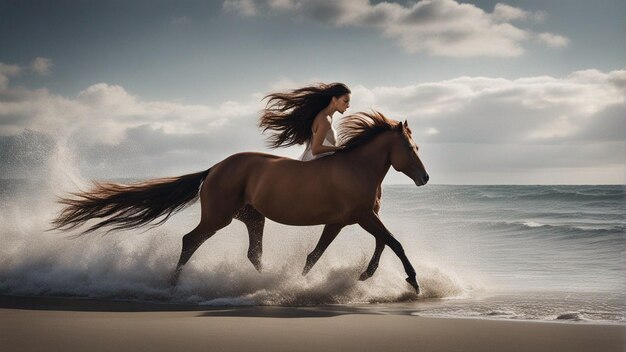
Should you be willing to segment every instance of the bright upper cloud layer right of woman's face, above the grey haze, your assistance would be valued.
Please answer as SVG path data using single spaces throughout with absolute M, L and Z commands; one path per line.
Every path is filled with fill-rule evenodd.
M 624 138 L 616 139 L 612 130 L 626 122 L 625 79 L 624 70 L 577 71 L 565 78 L 459 77 L 405 87 L 359 86 L 352 100 L 353 106 L 367 101 L 391 117 L 408 118 L 429 143 L 573 143 L 588 140 L 589 130 L 596 131 L 594 140 L 607 142 Z

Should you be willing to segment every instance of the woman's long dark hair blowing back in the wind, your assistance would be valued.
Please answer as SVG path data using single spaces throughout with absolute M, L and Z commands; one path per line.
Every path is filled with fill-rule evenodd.
M 270 130 L 268 137 L 271 148 L 303 144 L 311 138 L 311 126 L 317 113 L 330 104 L 333 97 L 350 94 L 343 83 L 318 83 L 286 93 L 272 93 L 259 127 L 263 132 Z

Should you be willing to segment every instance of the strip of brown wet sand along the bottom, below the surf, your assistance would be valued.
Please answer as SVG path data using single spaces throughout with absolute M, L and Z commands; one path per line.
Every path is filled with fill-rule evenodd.
M 1 351 L 624 351 L 626 325 L 0 296 Z

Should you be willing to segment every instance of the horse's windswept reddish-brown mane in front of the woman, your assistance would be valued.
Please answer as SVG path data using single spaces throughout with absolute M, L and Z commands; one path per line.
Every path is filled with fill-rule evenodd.
M 339 125 L 339 140 L 346 149 L 366 143 L 384 131 L 391 131 L 399 122 L 378 111 L 357 112 L 344 117 Z

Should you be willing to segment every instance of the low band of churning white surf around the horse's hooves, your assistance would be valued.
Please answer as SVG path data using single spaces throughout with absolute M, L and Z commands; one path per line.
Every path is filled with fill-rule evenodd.
M 263 258 L 264 270 L 258 273 L 245 256 L 245 243 L 220 243 L 217 235 L 196 253 L 179 285 L 172 289 L 167 277 L 180 251 L 180 234 L 175 230 L 175 226 L 165 225 L 143 234 L 96 233 L 74 240 L 62 234 L 31 234 L 10 256 L 3 256 L 0 290 L 17 295 L 205 304 L 316 305 L 417 299 L 394 257 L 383 260 L 374 277 L 365 282 L 357 280 L 367 265 L 363 255 L 328 258 L 303 277 L 304 246 L 281 255 L 289 248 L 272 238 L 267 240 L 270 249 Z M 237 236 L 229 229 L 224 232 L 222 237 Z M 422 274 L 421 267 L 418 270 L 428 297 L 462 292 L 455 286 L 456 279 L 437 270 L 427 273 L 432 276 Z

